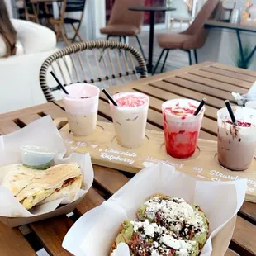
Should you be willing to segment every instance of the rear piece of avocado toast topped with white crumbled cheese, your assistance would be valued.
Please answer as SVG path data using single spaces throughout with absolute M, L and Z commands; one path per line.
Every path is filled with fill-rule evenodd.
M 183 239 L 197 241 L 200 249 L 206 243 L 209 222 L 204 212 L 183 198 L 155 195 L 140 206 L 137 216 L 141 221 L 149 220 L 162 225 Z

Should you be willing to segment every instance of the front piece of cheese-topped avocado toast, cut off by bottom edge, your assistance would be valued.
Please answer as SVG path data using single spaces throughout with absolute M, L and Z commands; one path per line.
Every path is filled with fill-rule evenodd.
M 111 256 L 115 256 L 116 247 L 126 243 L 131 256 L 197 256 L 199 254 L 196 241 L 184 240 L 172 231 L 145 221 L 125 220 L 121 224 L 119 234 L 111 246 Z

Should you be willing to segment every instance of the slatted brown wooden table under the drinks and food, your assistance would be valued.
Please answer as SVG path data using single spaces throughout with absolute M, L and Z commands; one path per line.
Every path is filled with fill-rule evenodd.
M 216 140 L 216 111 L 224 106 L 226 98 L 234 102 L 230 92 L 247 92 L 255 80 L 256 72 L 223 64 L 204 63 L 145 78 L 122 87 L 113 87 L 110 92 L 134 90 L 148 94 L 150 107 L 147 126 L 154 130 L 163 128 L 160 111 L 162 102 L 178 97 L 189 97 L 195 100 L 207 97 L 206 116 L 202 123 L 200 136 L 203 139 Z M 0 134 L 5 135 L 19 130 L 45 115 L 50 115 L 53 119 L 64 117 L 62 102 L 45 103 L 0 115 Z M 98 118 L 101 121 L 111 121 L 107 99 L 103 95 L 100 99 Z M 130 174 L 96 165 L 94 165 L 94 172 L 95 179 L 92 188 L 70 218 L 60 216 L 28 225 L 29 230 L 23 228 L 22 233 L 29 233 L 30 230 L 32 233 L 25 236 L 17 228 L 8 228 L 0 223 L 0 255 L 16 256 L 21 255 L 21 252 L 26 256 L 35 255 L 35 239 L 50 255 L 69 255 L 61 244 L 73 222 L 86 211 L 111 197 L 131 177 Z M 244 202 L 239 211 L 233 239 L 226 256 L 236 255 L 235 252 L 240 255 L 256 255 L 255 224 L 256 205 Z M 26 239 L 30 237 L 34 238 L 31 244 Z

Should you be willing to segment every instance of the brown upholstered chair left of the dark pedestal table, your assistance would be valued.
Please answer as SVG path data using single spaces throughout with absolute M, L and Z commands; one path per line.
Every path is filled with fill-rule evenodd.
M 135 36 L 145 59 L 138 37 L 144 20 L 144 12 L 133 12 L 128 9 L 129 7 L 142 6 L 143 3 L 144 0 L 116 0 L 107 26 L 100 29 L 100 31 L 102 34 L 107 35 L 107 40 L 111 36 L 117 36 L 120 41 L 124 38 L 126 42 L 126 36 Z

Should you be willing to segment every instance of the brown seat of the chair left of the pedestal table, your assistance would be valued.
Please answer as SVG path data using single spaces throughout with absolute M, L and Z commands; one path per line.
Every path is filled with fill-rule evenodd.
M 102 34 L 112 36 L 136 36 L 140 33 L 140 28 L 130 25 L 108 25 L 100 31 Z

